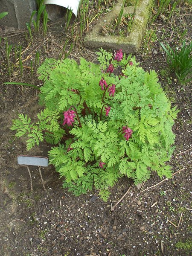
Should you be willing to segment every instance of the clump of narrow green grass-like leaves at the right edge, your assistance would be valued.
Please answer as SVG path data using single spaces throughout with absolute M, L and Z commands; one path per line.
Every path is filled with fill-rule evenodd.
M 192 42 L 186 45 L 186 41 L 184 40 L 180 51 L 177 48 L 172 49 L 169 44 L 167 44 L 167 47 L 162 43 L 160 45 L 168 56 L 167 63 L 169 69 L 175 72 L 179 81 L 182 84 L 192 81 Z

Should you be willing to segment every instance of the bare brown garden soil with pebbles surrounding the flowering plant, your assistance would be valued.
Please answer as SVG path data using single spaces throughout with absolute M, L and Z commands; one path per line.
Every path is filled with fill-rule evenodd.
M 3 34 L 5 28 L 1 29 Z M 63 35 L 55 31 L 48 32 L 51 41 L 36 38 L 25 57 L 39 45 L 44 52 L 41 61 L 56 57 L 61 52 L 56 44 L 61 43 Z M 10 44 L 24 41 L 23 34 L 9 38 Z M 23 49 L 27 46 L 27 42 L 23 43 Z M 166 59 L 159 44 L 154 42 L 148 47 L 150 54 L 145 54 L 143 48 L 136 55 L 137 61 L 146 71 L 157 71 L 172 106 L 180 109 L 173 127 L 176 149 L 169 162 L 173 173 L 177 173 L 160 184 L 154 173 L 139 189 L 131 179 L 123 177 L 110 189 L 107 202 L 94 189 L 86 195 L 73 196 L 62 188 L 62 179 L 53 166 L 41 169 L 46 191 L 38 168 L 29 166 L 33 184 L 33 192 L 30 191 L 27 168 L 17 164 L 17 156 L 47 156 L 50 145 L 42 143 L 26 151 L 25 140 L 16 138 L 9 128 L 18 113 L 33 117 L 42 107 L 38 105 L 36 89 L 3 84 L 10 78 L 5 72 L 4 48 L 0 49 L 0 256 L 191 255 L 191 247 L 186 246 L 192 243 L 191 91 L 189 84 L 181 86 L 177 78 L 167 75 Z M 96 61 L 93 50 L 85 49 L 83 44 L 70 54 L 77 61 L 80 56 Z M 35 74 L 30 78 L 29 67 L 30 62 L 26 61 L 23 81 L 41 84 Z M 18 72 L 12 75 L 12 81 L 20 81 Z M 111 211 L 129 188 L 128 194 Z

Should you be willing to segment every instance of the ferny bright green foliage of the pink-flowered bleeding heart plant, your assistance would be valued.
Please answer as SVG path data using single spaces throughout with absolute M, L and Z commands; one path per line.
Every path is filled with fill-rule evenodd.
M 74 195 L 95 187 L 106 201 L 108 188 L 123 175 L 135 183 L 147 180 L 151 171 L 171 177 L 166 161 L 174 150 L 172 125 L 178 111 L 171 108 L 154 71 L 145 72 L 131 55 L 117 62 L 103 49 L 97 54 L 99 64 L 84 58 L 80 64 L 72 59 L 44 61 L 38 73 L 44 81 L 39 97 L 45 109 L 34 122 L 20 114 L 11 129 L 17 137 L 28 137 L 27 149 L 43 140 L 59 144 L 49 151 L 49 163 L 64 178 L 63 187 Z M 120 66 L 120 75 L 106 73 L 111 61 L 115 69 Z M 108 88 L 101 90 L 102 77 L 108 88 L 116 85 L 114 96 Z M 111 108 L 108 116 L 104 105 Z M 73 126 L 62 125 L 63 112 L 74 107 Z M 123 127 L 132 131 L 128 140 Z

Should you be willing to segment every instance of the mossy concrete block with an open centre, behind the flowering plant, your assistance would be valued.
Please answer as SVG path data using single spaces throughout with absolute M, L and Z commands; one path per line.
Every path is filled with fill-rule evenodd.
M 101 15 L 92 31 L 84 38 L 84 42 L 87 46 L 114 50 L 122 49 L 125 53 L 137 52 L 139 50 L 148 21 L 148 11 L 152 0 L 140 0 L 131 32 L 128 36 L 101 35 L 102 27 L 110 26 L 116 17 L 118 17 L 122 2 L 122 0 L 117 0 L 116 5 L 113 7 L 111 12 Z M 134 6 L 125 7 L 124 15 L 133 13 L 133 11 Z

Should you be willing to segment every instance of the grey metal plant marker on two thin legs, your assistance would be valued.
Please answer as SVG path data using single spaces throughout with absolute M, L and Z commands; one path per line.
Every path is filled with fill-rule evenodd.
M 47 167 L 48 166 L 48 158 L 47 157 L 37 157 L 37 156 L 22 156 L 19 155 L 17 157 L 17 163 L 21 166 L 25 166 L 29 172 L 29 177 L 30 177 L 30 182 L 31 182 L 31 192 L 33 192 L 33 185 L 32 185 L 32 176 L 31 176 L 31 172 L 29 170 L 29 166 L 38 166 L 39 169 L 39 174 L 41 176 L 41 182 L 43 184 L 44 190 L 45 189 L 45 185 L 44 185 L 44 180 L 41 174 L 41 167 Z

